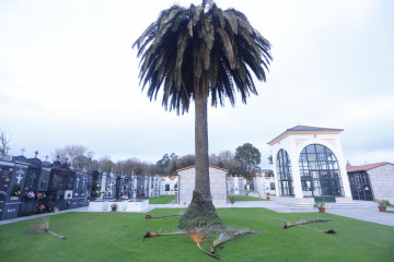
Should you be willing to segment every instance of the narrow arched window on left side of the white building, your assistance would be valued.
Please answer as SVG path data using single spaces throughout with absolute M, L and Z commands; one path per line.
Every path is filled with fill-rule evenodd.
M 293 196 L 294 188 L 291 176 L 291 163 L 288 153 L 280 150 L 277 160 L 279 194 L 281 196 Z

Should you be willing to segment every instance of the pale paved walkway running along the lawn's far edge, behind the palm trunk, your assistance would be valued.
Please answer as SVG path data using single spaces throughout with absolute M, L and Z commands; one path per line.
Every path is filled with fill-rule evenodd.
M 290 206 L 279 204 L 275 201 L 237 201 L 233 205 L 232 204 L 223 204 L 223 205 L 216 205 L 217 209 L 230 209 L 230 207 L 264 207 L 268 209 L 278 213 L 315 213 L 316 210 L 292 210 Z M 364 205 L 363 209 L 335 209 L 335 207 L 327 207 L 326 213 L 346 216 L 355 219 L 367 221 L 372 223 L 378 223 L 386 226 L 394 226 L 394 214 L 379 212 L 378 205 L 371 201 L 354 201 L 358 204 Z M 154 209 L 184 209 L 185 206 L 182 204 L 152 204 L 149 205 L 149 209 L 143 210 L 142 212 L 149 212 Z M 394 211 L 393 207 L 387 207 L 387 211 Z M 88 212 L 88 207 L 80 207 L 67 211 L 60 211 L 60 213 L 66 212 Z M 25 216 L 25 217 L 16 217 L 12 219 L 0 221 L 0 226 L 4 224 L 15 223 L 20 221 L 26 221 L 36 217 L 56 215 L 56 213 L 46 213 L 40 215 L 33 215 L 33 216 Z

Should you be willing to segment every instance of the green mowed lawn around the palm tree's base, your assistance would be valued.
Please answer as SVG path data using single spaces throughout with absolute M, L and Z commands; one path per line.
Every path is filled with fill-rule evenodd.
M 177 214 L 181 209 L 154 210 L 149 214 Z M 394 227 L 335 216 L 332 214 L 280 214 L 265 209 L 218 209 L 228 226 L 267 230 L 221 245 L 217 254 L 222 261 L 346 261 L 392 262 Z M 26 235 L 32 221 L 0 226 L 0 260 L 19 261 L 215 261 L 204 254 L 185 235 L 148 238 L 152 231 L 175 231 L 178 217 L 146 219 L 146 213 L 63 213 L 49 216 L 49 234 Z M 320 229 L 335 229 L 336 235 L 302 227 L 282 229 L 286 221 L 332 218 L 312 224 Z M 209 238 L 209 237 L 208 237 Z M 208 250 L 210 242 L 204 242 Z

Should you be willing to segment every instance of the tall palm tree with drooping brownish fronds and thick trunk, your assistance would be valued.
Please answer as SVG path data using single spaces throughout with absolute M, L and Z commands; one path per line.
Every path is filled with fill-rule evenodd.
M 208 98 L 213 107 L 223 106 L 225 97 L 234 106 L 235 91 L 245 104 L 251 93 L 257 95 L 252 72 L 257 80 L 266 80 L 270 44 L 243 13 L 234 9 L 223 11 L 212 1 L 202 0 L 198 7 L 173 5 L 163 10 L 135 46 L 141 58 L 140 84 L 142 90 L 148 86 L 151 100 L 163 88 L 163 107 L 178 115 L 187 112 L 190 102 L 195 102 L 196 183 L 184 218 L 196 218 L 198 225 L 204 224 L 201 219 L 215 221 L 207 218 L 208 214 L 216 214 L 209 188 Z M 202 212 L 196 212 L 201 207 L 196 199 L 205 202 L 205 207 L 199 209 Z M 189 227 L 181 225 L 182 221 L 179 227 Z

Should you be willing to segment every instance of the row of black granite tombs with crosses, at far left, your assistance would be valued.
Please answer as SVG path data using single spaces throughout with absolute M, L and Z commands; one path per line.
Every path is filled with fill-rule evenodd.
M 36 156 L 0 157 L 0 219 L 89 205 L 92 172 Z

